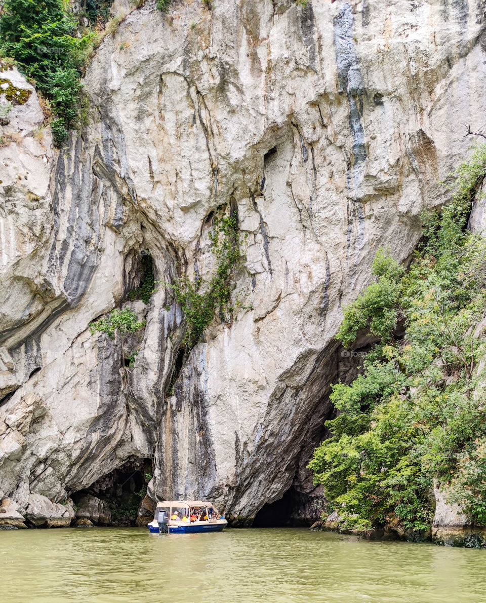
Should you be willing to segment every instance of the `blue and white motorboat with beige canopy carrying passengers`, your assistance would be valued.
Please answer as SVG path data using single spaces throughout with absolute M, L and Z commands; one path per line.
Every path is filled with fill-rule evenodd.
M 161 500 L 155 507 L 149 531 L 156 534 L 221 532 L 228 522 L 206 500 Z

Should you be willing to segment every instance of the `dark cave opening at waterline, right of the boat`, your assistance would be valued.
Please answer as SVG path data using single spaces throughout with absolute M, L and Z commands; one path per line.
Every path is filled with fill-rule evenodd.
M 270 502 L 258 511 L 254 528 L 295 528 L 311 526 L 320 519 L 322 500 L 299 492 L 292 485 L 281 499 Z

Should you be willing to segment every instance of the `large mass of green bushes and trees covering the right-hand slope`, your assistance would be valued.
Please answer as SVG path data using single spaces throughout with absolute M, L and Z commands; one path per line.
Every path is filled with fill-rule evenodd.
M 332 386 L 340 414 L 310 468 L 348 528 L 428 529 L 434 481 L 486 523 L 486 245 L 465 230 L 485 175 L 483 145 L 456 172 L 452 202 L 423 216 L 410 270 L 379 251 L 375 282 L 344 311 L 344 346 L 364 329 L 379 341 L 352 384 Z

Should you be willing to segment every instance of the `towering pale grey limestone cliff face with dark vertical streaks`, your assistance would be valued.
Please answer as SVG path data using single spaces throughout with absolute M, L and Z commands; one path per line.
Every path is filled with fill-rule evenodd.
M 305 466 L 342 307 L 378 248 L 407 259 L 420 212 L 449 198 L 463 122 L 484 121 L 484 21 L 482 0 L 148 1 L 105 37 L 90 125 L 60 153 L 38 139 L 35 93 L 16 107 L 20 137 L 0 148 L 0 489 L 32 522 L 132 459 L 152 460 L 152 498 L 208 498 L 241 523 L 290 488 L 320 496 Z M 125 367 L 90 322 L 139 284 L 144 254 L 160 281 L 207 279 L 220 206 L 237 209 L 246 309 L 182 358 L 162 283 L 130 303 L 146 327 Z

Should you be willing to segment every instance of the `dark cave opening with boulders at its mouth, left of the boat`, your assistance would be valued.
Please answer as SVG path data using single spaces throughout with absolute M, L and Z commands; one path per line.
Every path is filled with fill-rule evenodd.
M 72 499 L 76 506 L 81 507 L 86 506 L 87 500 L 92 500 L 92 497 L 107 504 L 110 519 L 104 520 L 104 525 L 134 526 L 151 474 L 151 459 L 128 459 L 121 467 L 93 482 L 89 488 L 73 494 Z

